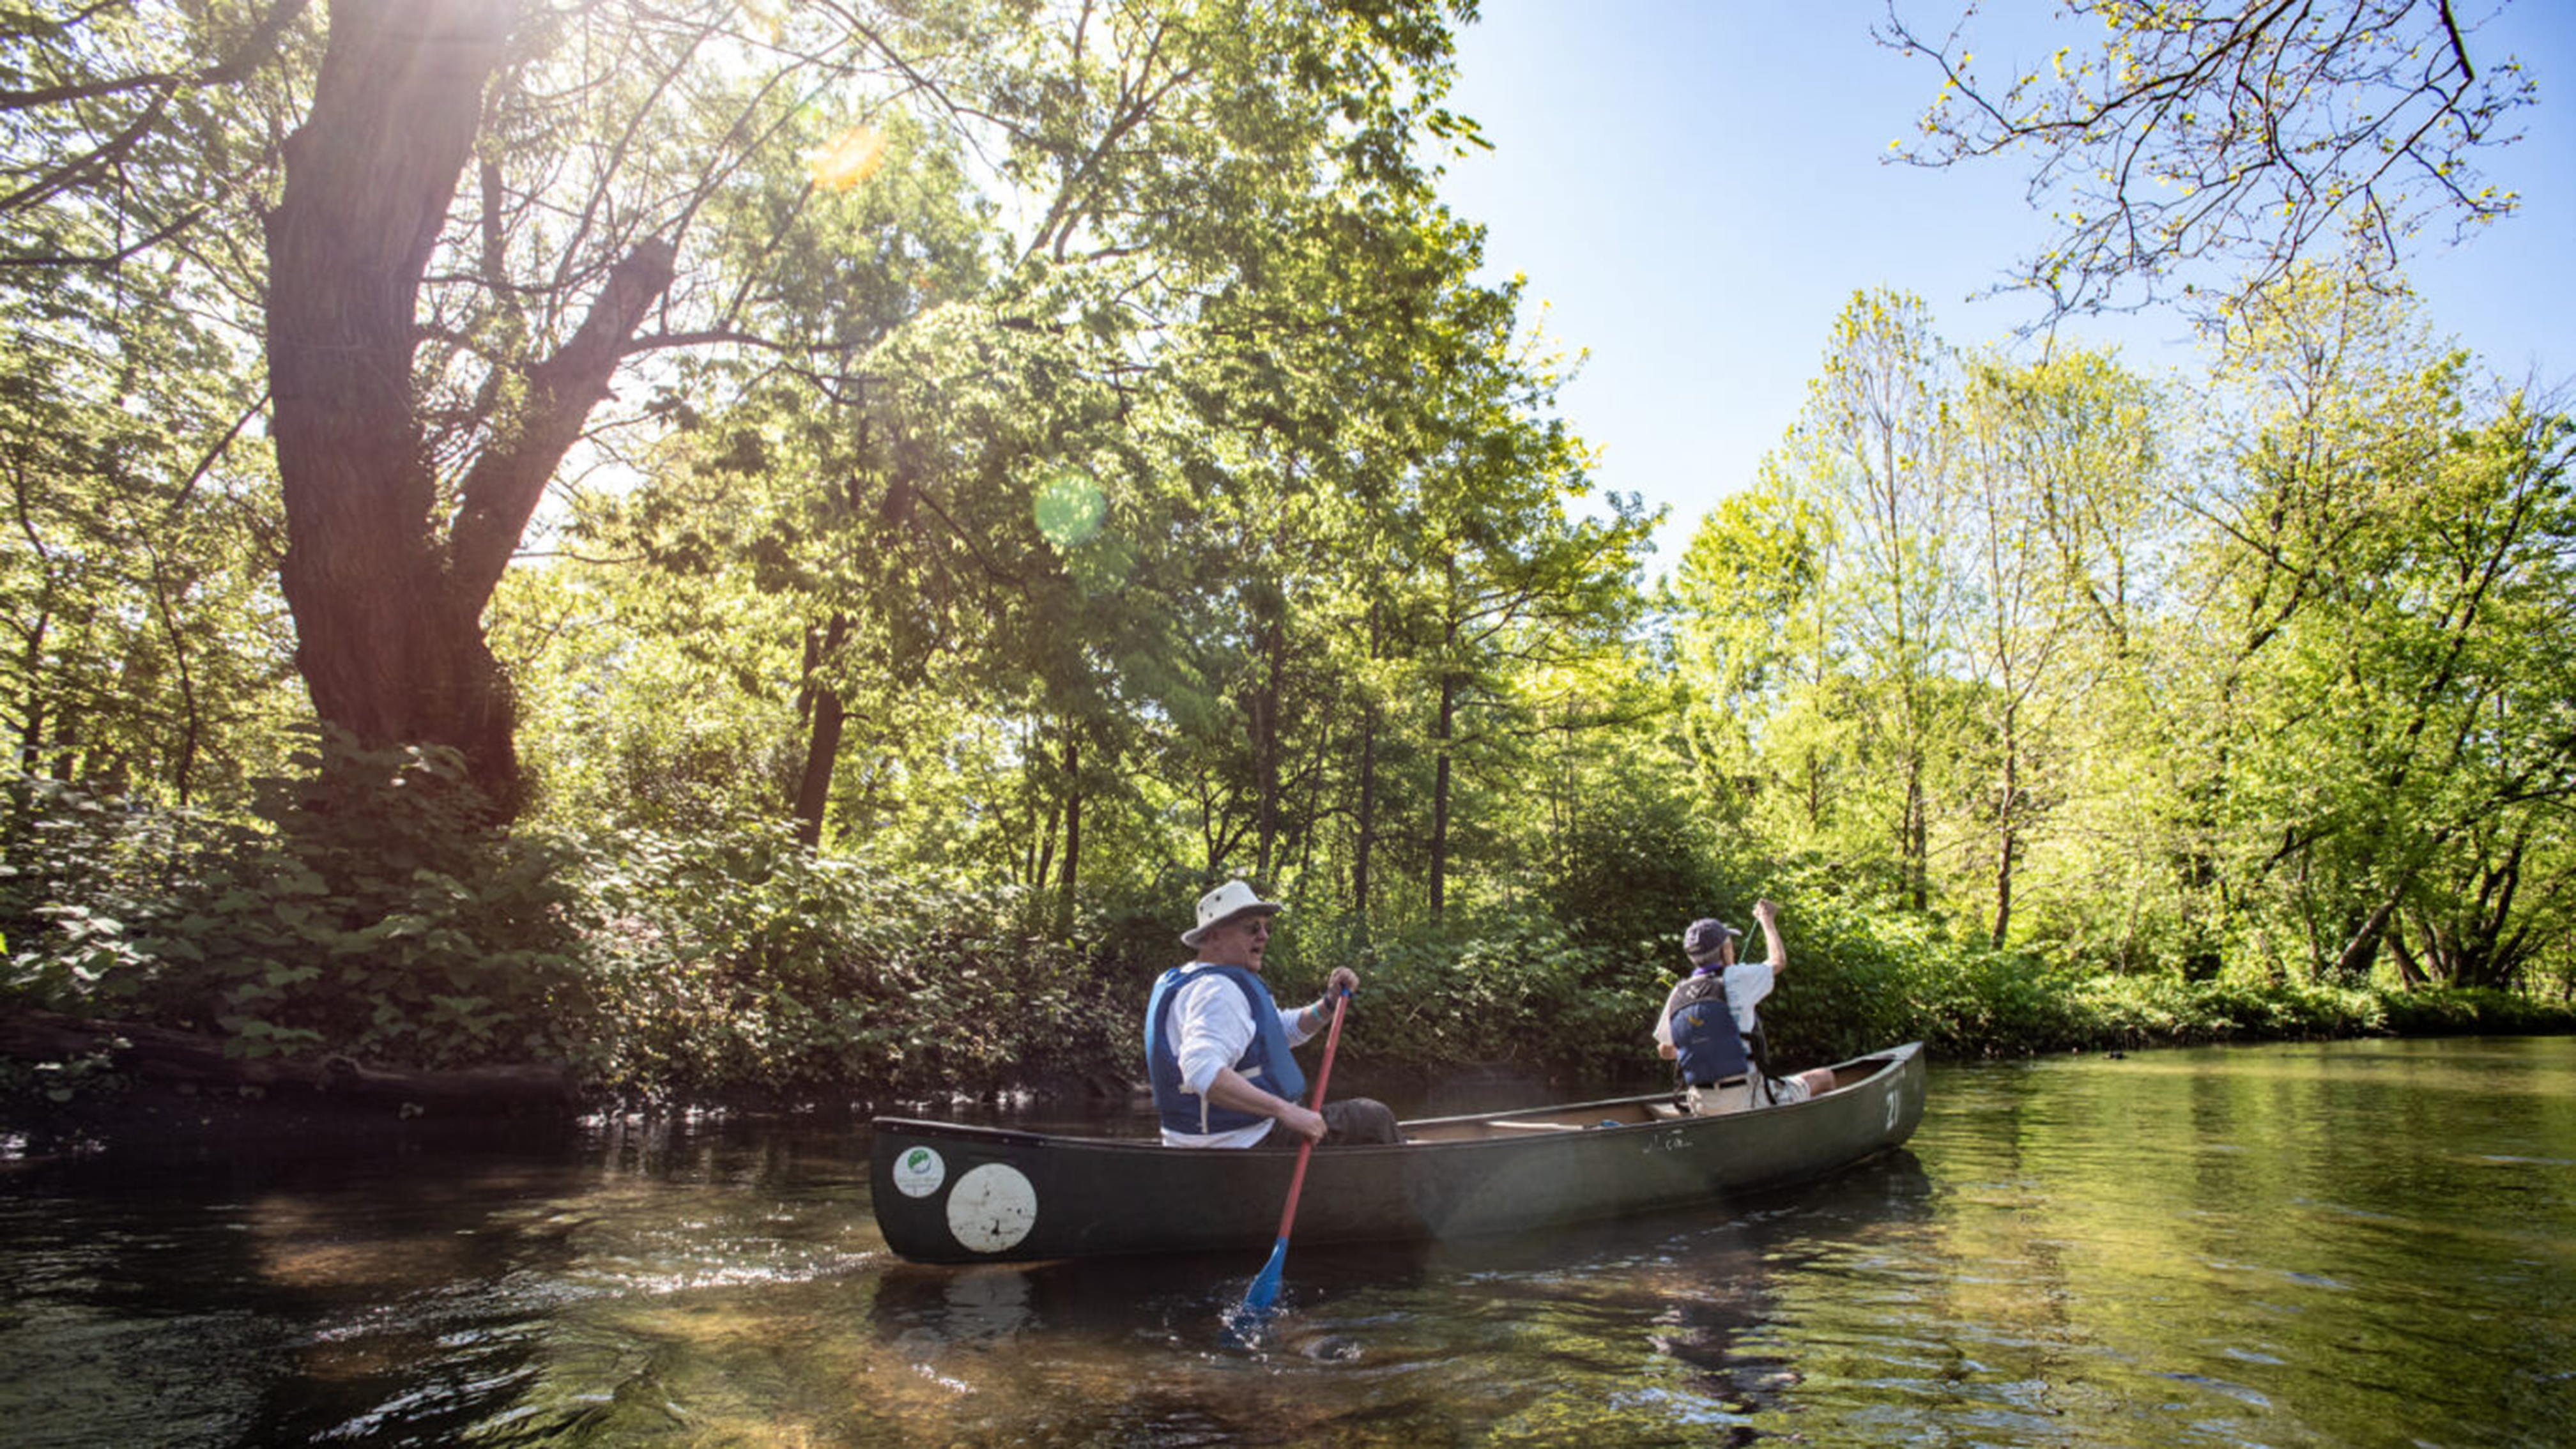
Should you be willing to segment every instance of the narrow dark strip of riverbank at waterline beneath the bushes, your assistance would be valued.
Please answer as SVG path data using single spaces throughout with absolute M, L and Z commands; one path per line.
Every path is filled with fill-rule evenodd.
M 1973 982 L 1971 982 L 1973 985 Z M 1991 980 L 1984 985 L 1994 985 Z M 1814 990 L 1803 995 L 1816 995 Z M 1850 1003 L 1850 998 L 1844 998 Z M 1999 1060 L 2063 1052 L 2138 1052 L 2156 1047 L 2326 1042 L 2370 1036 L 2553 1036 L 2576 1034 L 2576 1008 L 2494 990 L 2329 990 L 2275 982 L 2092 980 L 2048 995 L 1986 993 L 1914 1000 L 1909 1013 L 1855 1011 L 1880 1021 L 1880 1042 L 1919 1039 L 1935 1060 Z M 1401 1024 L 1425 1003 L 1376 1000 Z M 1806 1008 L 1806 1011 L 1801 1011 Z M 1826 1060 L 1850 1047 L 1824 1034 L 1811 1047 L 1808 1000 L 1772 1011 L 1775 1049 L 1788 1065 Z M 1850 1031 L 1852 1026 L 1844 1026 Z M 917 1083 L 848 1075 L 801 1083 L 582 1083 L 562 1065 L 469 1067 L 425 1073 L 348 1057 L 234 1060 L 216 1039 L 155 1026 L 0 1021 L 0 1132 L 111 1132 L 147 1137 L 234 1132 L 374 1132 L 479 1124 L 574 1124 L 600 1116 L 742 1114 L 814 1122 L 863 1119 L 878 1111 L 938 1111 L 1002 1104 L 1103 1104 L 1133 1098 L 1133 1065 L 1115 1049 L 1090 1070 L 1023 1075 L 984 1070 L 943 1091 Z M 1638 1055 L 1618 1070 L 1605 1055 L 1569 1062 L 1548 1052 L 1422 1060 L 1345 1039 L 1337 1080 L 1345 1091 L 1419 1096 L 1461 1080 L 1662 1080 L 1662 1065 Z

